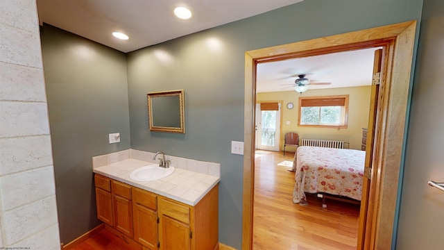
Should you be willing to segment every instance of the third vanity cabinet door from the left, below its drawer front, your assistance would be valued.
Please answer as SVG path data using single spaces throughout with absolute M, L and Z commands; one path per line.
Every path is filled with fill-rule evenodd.
M 157 249 L 157 212 L 134 204 L 134 238 L 148 249 Z

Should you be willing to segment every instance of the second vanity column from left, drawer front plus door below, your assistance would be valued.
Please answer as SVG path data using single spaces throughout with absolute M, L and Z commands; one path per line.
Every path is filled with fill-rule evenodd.
M 112 181 L 112 206 L 114 207 L 114 228 L 133 238 L 133 205 L 131 186 L 119 181 Z

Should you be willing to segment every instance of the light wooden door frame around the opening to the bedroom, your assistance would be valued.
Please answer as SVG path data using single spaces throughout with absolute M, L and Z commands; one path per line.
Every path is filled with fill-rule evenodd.
M 285 58 L 384 47 L 376 116 L 366 232 L 360 249 L 390 249 L 404 143 L 416 21 L 392 24 L 245 53 L 244 194 L 242 249 L 252 249 L 256 65 Z M 290 201 L 289 201 L 290 202 Z M 364 231 L 364 229 L 363 229 Z

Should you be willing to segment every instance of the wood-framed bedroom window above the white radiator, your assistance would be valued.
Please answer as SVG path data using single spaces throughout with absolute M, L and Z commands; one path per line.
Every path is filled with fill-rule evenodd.
M 348 94 L 299 97 L 299 126 L 347 128 Z

